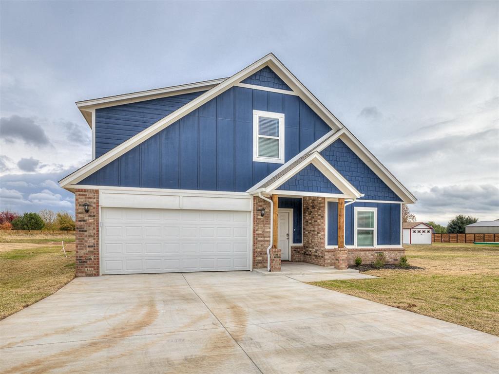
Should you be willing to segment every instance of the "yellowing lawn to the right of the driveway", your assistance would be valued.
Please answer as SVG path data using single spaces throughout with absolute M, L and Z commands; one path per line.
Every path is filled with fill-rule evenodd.
M 386 305 L 499 335 L 499 247 L 408 245 L 420 269 L 369 270 L 379 279 L 313 282 Z

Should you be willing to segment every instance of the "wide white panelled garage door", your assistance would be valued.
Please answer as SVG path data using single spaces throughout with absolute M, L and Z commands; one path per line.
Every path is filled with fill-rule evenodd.
M 250 270 L 247 211 L 102 208 L 102 274 Z

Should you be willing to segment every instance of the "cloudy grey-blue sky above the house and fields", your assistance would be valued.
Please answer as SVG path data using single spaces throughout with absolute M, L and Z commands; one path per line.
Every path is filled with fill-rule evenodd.
M 0 2 L 0 208 L 73 211 L 74 102 L 227 77 L 269 51 L 419 201 L 499 218 L 499 3 Z

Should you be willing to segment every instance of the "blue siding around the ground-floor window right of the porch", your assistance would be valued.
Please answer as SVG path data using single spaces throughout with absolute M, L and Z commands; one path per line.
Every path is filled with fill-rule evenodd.
M 360 202 L 345 206 L 345 244 L 354 242 L 354 207 L 365 206 L 377 208 L 377 244 L 400 245 L 400 204 L 389 202 Z M 338 203 L 327 202 L 327 245 L 338 244 Z

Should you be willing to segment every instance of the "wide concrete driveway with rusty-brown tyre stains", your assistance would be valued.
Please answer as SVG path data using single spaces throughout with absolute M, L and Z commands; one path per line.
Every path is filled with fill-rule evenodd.
M 498 373 L 499 338 L 250 272 L 77 278 L 0 322 L 1 373 Z

